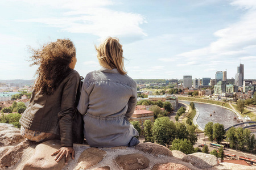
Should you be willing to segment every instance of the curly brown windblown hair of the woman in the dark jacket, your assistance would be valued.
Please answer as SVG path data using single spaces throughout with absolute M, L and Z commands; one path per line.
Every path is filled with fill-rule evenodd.
M 51 95 L 60 82 L 66 78 L 71 71 L 69 63 L 76 56 L 76 48 L 69 39 L 58 39 L 48 42 L 42 48 L 30 48 L 32 53 L 31 65 L 39 65 L 35 75 L 34 90 L 44 95 Z

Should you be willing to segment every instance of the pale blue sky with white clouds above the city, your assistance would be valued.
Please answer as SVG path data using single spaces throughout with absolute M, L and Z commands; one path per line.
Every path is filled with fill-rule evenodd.
M 94 45 L 108 36 L 123 45 L 134 79 L 256 79 L 254 0 L 1 0 L 0 79 L 35 79 L 28 46 L 57 39 L 76 46 L 75 70 L 100 69 Z

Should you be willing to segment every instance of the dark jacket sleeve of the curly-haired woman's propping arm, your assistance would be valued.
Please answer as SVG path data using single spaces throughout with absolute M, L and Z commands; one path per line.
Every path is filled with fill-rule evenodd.
M 68 77 L 68 80 L 63 87 L 61 109 L 58 113 L 61 147 L 73 147 L 73 111 L 76 107 L 75 101 L 77 88 L 79 87 L 79 81 L 80 75 L 75 71 Z

